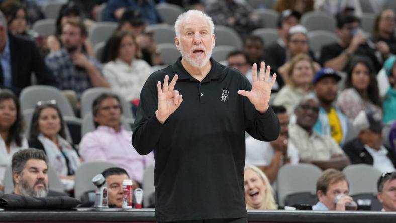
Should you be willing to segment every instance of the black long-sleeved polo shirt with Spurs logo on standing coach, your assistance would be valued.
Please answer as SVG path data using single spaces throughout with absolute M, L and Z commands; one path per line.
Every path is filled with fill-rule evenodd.
M 212 68 L 201 81 L 178 61 L 153 73 L 140 94 L 132 143 L 139 154 L 154 150 L 157 221 L 246 217 L 244 199 L 245 130 L 272 141 L 279 121 L 272 109 L 259 114 L 239 94 L 249 81 L 236 69 L 211 58 Z M 180 107 L 162 125 L 157 82 L 165 75 L 183 95 Z

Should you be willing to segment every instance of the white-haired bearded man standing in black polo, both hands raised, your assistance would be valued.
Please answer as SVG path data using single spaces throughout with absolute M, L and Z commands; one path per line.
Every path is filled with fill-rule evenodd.
M 257 76 L 254 64 L 250 84 L 211 58 L 214 24 L 201 11 L 181 14 L 175 32 L 181 57 L 146 81 L 132 136 L 139 154 L 154 150 L 156 220 L 247 222 L 245 131 L 261 141 L 278 137 L 268 105 L 276 75 L 261 62 Z

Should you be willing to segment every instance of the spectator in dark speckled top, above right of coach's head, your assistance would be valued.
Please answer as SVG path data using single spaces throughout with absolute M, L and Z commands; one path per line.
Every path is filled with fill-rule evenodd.
M 263 27 L 260 16 L 246 2 L 220 0 L 208 3 L 205 12 L 213 19 L 214 24 L 231 27 L 242 38 Z

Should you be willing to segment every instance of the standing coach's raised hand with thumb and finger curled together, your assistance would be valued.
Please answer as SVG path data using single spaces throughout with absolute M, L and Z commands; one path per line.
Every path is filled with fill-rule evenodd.
M 180 92 L 173 90 L 177 81 L 177 74 L 174 75 L 172 81 L 168 85 L 169 76 L 165 75 L 164 84 L 161 88 L 161 81 L 157 83 L 158 90 L 158 110 L 155 111 L 155 115 L 160 123 L 164 124 L 168 117 L 174 113 L 174 111 L 183 102 L 183 96 Z

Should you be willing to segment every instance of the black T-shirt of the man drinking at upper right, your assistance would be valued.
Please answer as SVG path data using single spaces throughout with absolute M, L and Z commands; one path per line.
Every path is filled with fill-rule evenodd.
M 339 43 L 332 43 L 329 45 L 325 45 L 321 49 L 320 56 L 320 64 L 324 66 L 324 63 L 328 60 L 338 57 L 346 48 L 340 46 Z M 378 58 L 375 56 L 375 50 L 371 49 L 367 45 L 360 45 L 353 55 L 366 56 L 368 57 L 374 65 L 375 73 L 378 73 L 382 68 L 382 64 L 378 61 Z M 342 71 L 346 71 L 348 68 L 348 63 L 342 69 Z

